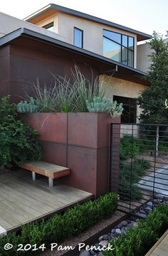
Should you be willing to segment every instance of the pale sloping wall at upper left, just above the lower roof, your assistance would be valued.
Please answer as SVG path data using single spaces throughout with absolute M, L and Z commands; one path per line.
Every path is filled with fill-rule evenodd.
M 45 28 L 41 28 L 39 26 L 33 25 L 26 21 L 22 21 L 19 18 L 14 18 L 1 12 L 0 21 L 0 37 L 5 36 L 6 34 L 11 33 L 12 31 L 15 31 L 18 28 L 28 28 L 31 29 L 32 31 L 36 31 L 38 33 L 45 34 L 46 36 L 51 36 L 53 38 L 64 41 L 62 36 L 58 35 L 57 33 L 47 31 Z

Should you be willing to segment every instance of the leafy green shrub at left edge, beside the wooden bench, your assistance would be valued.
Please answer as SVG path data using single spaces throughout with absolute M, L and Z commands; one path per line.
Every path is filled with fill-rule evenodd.
M 36 142 L 38 133 L 16 119 L 16 105 L 9 96 L 0 102 L 0 167 L 11 167 L 19 161 L 38 160 L 41 146 Z

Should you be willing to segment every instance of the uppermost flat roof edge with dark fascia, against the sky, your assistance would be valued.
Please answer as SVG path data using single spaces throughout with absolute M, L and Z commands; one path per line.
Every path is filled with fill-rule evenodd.
M 102 24 L 105 24 L 107 26 L 111 26 L 111 27 L 114 27 L 114 28 L 119 28 L 119 29 L 122 29 L 123 31 L 127 31 L 127 32 L 130 32 L 130 33 L 135 33 L 137 35 L 137 41 L 144 41 L 144 40 L 152 38 L 152 36 L 147 34 L 147 33 L 143 33 L 143 32 L 137 31 L 137 30 L 132 29 L 132 28 L 127 28 L 126 26 L 122 26 L 120 24 L 113 23 L 111 21 L 106 21 L 103 18 L 98 18 L 98 17 L 92 16 L 92 15 L 89 15 L 89 14 L 84 14 L 80 11 L 75 11 L 73 9 L 66 8 L 64 6 L 59 6 L 58 4 L 48 4 L 48 6 L 43 7 L 42 9 L 36 11 L 35 13 L 33 13 L 30 16 L 24 18 L 23 20 L 33 23 L 33 21 L 36 21 L 37 17 L 40 17 L 40 16 L 43 17 L 44 13 L 48 12 L 48 14 L 49 14 L 50 11 L 52 11 L 52 10 L 61 11 L 61 12 L 66 13 L 66 14 L 70 14 L 70 15 L 73 15 L 73 16 L 78 16 L 80 18 L 85 18 L 85 19 L 88 19 L 90 21 L 95 21 L 97 23 L 102 23 Z

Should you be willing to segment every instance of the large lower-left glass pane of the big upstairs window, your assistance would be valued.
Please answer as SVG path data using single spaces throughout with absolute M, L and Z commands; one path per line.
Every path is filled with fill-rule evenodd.
M 120 50 L 120 45 L 107 38 L 103 38 L 103 53 L 105 57 L 121 62 Z

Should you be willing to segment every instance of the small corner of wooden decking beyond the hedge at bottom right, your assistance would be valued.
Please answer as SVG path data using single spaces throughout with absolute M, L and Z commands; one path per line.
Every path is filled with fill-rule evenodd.
M 167 256 L 168 255 L 168 230 L 147 252 L 145 256 Z

